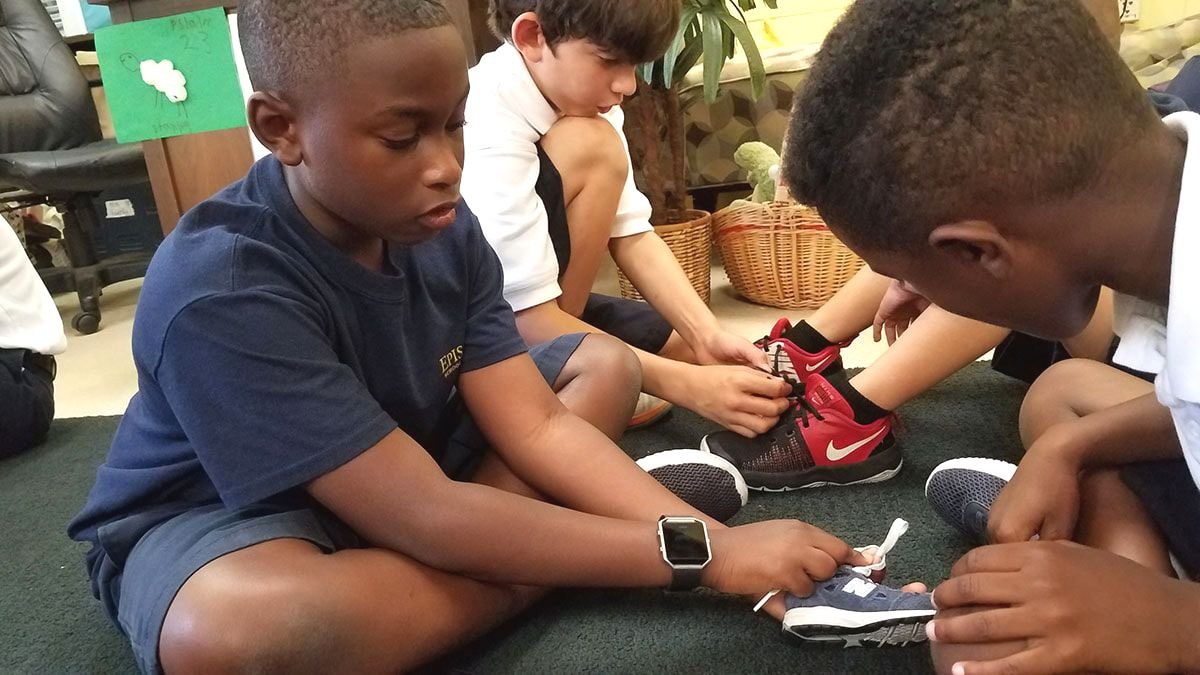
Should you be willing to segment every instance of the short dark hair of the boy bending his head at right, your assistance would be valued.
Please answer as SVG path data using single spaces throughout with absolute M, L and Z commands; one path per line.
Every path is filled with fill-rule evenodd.
M 1079 2 L 858 0 L 797 97 L 784 171 L 839 237 L 912 251 L 1079 193 L 1157 123 Z

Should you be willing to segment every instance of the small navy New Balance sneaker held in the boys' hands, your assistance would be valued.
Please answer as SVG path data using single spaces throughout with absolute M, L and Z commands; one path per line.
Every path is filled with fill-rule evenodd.
M 924 643 L 934 617 L 931 593 L 881 586 L 841 567 L 811 596 L 787 596 L 784 631 L 797 638 L 846 647 Z

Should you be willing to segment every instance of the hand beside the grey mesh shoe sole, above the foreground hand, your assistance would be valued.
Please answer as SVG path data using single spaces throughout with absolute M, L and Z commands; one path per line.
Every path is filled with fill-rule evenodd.
M 1079 519 L 1080 465 L 1061 441 L 1046 432 L 1030 446 L 1016 473 L 1001 490 L 988 518 L 988 538 L 997 544 L 1068 539 Z

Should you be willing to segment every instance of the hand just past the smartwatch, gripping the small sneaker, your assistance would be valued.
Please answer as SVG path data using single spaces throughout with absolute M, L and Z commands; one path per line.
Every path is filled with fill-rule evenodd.
M 780 589 L 812 593 L 814 580 L 833 577 L 841 565 L 866 565 L 850 544 L 799 520 L 767 520 L 710 533 L 713 562 L 704 585 L 725 593 L 762 596 Z

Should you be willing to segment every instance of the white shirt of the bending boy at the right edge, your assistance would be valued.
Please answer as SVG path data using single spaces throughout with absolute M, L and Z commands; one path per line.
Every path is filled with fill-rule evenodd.
M 1158 374 L 1158 400 L 1171 410 L 1183 456 L 1200 485 L 1200 114 L 1175 113 L 1163 121 L 1189 141 L 1175 217 L 1168 306 L 1116 294 L 1112 327 L 1121 345 L 1114 360 Z

